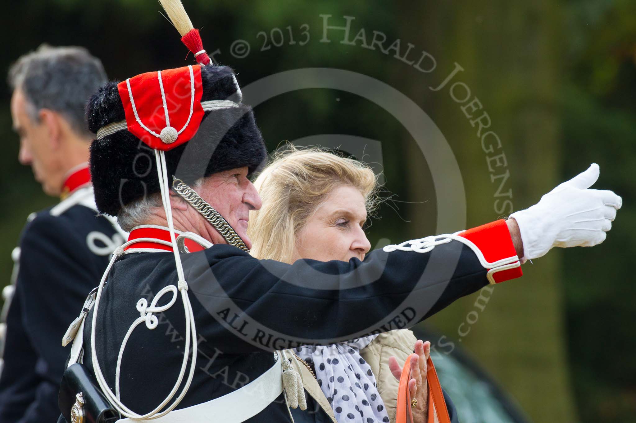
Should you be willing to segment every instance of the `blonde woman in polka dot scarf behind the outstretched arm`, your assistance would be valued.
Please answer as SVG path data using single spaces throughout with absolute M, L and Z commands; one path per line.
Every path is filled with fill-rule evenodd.
M 254 186 L 263 207 L 249 216 L 252 256 L 285 263 L 364 260 L 371 245 L 363 225 L 377 203 L 377 179 L 369 167 L 322 150 L 292 148 L 266 167 Z M 420 356 L 411 363 L 411 398 L 418 398 L 413 418 L 425 422 L 430 343 L 417 341 L 408 329 L 286 353 L 304 365 L 298 370 L 315 421 L 326 421 L 326 413 L 338 423 L 386 423 L 395 421 L 397 361 L 404 363 L 413 351 Z M 389 356 L 396 357 L 390 365 Z

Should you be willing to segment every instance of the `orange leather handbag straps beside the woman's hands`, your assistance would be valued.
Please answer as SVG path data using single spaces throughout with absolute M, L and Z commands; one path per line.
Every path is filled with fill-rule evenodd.
M 411 412 L 411 393 L 408 391 L 408 381 L 411 379 L 411 357 L 414 355 L 417 356 L 417 354 L 411 354 L 408 358 L 406 358 L 406 364 L 404 364 L 402 374 L 399 378 L 396 423 L 413 423 L 413 413 Z M 427 423 L 435 422 L 435 412 L 437 412 L 439 423 L 450 423 L 450 416 L 446 409 L 444 394 L 441 391 L 438 375 L 430 356 L 426 361 L 426 365 L 426 381 L 429 393 Z

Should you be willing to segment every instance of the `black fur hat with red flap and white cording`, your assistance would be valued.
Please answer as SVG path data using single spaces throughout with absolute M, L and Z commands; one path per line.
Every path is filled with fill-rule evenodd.
M 251 107 L 241 104 L 242 94 L 232 69 L 216 65 L 188 68 L 109 82 L 90 98 L 86 118 L 89 129 L 97 134 L 90 146 L 90 172 L 95 203 L 101 213 L 116 216 L 124 205 L 160 192 L 153 148 L 165 150 L 168 175 L 188 184 L 236 167 L 247 166 L 251 173 L 265 160 L 263 138 Z M 197 78 L 200 75 L 197 81 L 201 86 L 196 94 L 196 78 L 187 81 L 188 70 Z M 170 82 L 169 72 L 185 77 Z M 152 95 L 146 86 L 156 89 L 156 98 L 146 100 L 151 105 L 155 101 L 153 107 L 146 107 L 153 109 L 151 117 L 144 115 L 144 106 L 140 105 L 144 96 Z M 179 89 L 183 95 L 179 95 Z M 176 121 L 179 115 L 181 122 Z M 154 122 L 156 116 L 160 122 Z M 182 124 L 183 129 L 177 134 Z

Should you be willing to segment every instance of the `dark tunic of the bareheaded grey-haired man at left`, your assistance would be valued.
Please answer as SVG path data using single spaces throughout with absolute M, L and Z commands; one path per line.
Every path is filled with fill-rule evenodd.
M 83 197 L 92 199 L 92 190 L 82 190 Z M 62 336 L 106 269 L 114 247 L 123 242 L 111 222 L 97 217 L 94 209 L 64 202 L 56 207 L 36 214 L 20 238 L 20 268 L 7 316 L 0 377 L 0 422 L 57 419 L 57 396 L 69 355 Z M 117 244 L 109 249 L 98 238 Z

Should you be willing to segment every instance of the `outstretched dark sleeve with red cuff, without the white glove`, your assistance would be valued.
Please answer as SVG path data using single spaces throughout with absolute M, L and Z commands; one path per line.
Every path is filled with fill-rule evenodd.
M 290 265 L 214 245 L 188 255 L 184 268 L 189 294 L 205 308 L 200 318 L 209 322 L 198 333 L 237 353 L 403 329 L 489 282 L 521 275 L 503 220 L 376 250 L 364 261 Z

